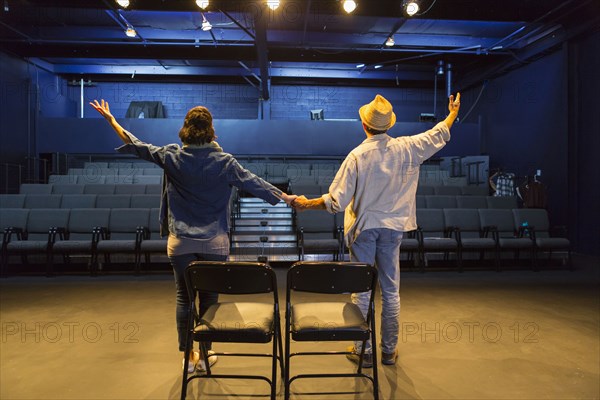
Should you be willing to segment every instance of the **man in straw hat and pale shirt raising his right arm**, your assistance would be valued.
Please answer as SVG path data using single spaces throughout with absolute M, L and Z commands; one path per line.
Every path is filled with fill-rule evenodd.
M 394 365 L 398 357 L 400 315 L 400 241 L 402 234 L 417 228 L 415 194 L 419 165 L 450 140 L 450 128 L 460 109 L 460 93 L 450 96 L 446 119 L 433 129 L 414 136 L 392 138 L 387 131 L 396 123 L 392 105 L 377 95 L 358 111 L 367 138 L 348 154 L 329 193 L 315 199 L 298 197 L 292 205 L 299 211 L 345 210 L 344 239 L 350 259 L 376 265 L 382 295 L 381 362 Z M 352 302 L 364 315 L 369 294 L 355 293 Z M 358 363 L 361 342 L 348 349 Z M 363 367 L 373 366 L 367 343 Z

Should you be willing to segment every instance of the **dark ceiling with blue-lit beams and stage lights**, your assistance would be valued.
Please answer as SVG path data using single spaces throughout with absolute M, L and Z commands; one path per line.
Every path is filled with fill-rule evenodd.
M 600 17 L 597 0 L 421 0 L 412 18 L 401 0 L 358 0 L 350 15 L 336 0 L 281 0 L 276 11 L 211 0 L 203 13 L 193 0 L 0 1 L 1 49 L 68 79 L 255 85 L 431 85 L 442 61 L 468 86 L 598 29 Z

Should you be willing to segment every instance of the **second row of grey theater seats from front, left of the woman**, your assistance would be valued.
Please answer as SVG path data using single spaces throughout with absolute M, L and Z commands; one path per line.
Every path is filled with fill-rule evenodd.
M 2 194 L 0 208 L 158 208 L 158 194 Z

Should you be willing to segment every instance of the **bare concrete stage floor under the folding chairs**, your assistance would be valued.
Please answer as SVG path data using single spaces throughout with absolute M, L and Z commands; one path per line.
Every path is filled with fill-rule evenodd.
M 574 263 L 572 272 L 403 271 L 400 358 L 379 367 L 380 398 L 598 399 L 600 262 L 576 256 Z M 284 302 L 286 270 L 277 272 Z M 2 279 L 0 289 L 0 398 L 179 397 L 170 275 L 20 276 Z M 352 368 L 343 356 L 315 358 L 298 359 L 293 373 Z M 268 361 L 223 357 L 215 372 L 240 365 L 269 373 Z M 333 394 L 309 394 L 318 391 Z M 292 392 L 293 399 L 371 398 L 361 379 L 300 380 Z M 188 391 L 188 398 L 256 397 L 268 398 L 265 383 L 196 380 Z

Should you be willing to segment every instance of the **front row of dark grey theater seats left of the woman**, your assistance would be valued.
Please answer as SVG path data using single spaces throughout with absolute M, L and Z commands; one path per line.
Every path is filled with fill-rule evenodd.
M 73 208 L 0 209 L 2 228 L 2 272 L 11 255 L 22 262 L 35 254 L 46 260 L 46 272 L 54 273 L 54 257 L 68 263 L 73 256 L 86 257 L 90 272 L 110 266 L 110 256 L 134 256 L 134 271 L 139 273 L 141 257 L 166 254 L 167 241 L 159 238 L 157 208 Z

